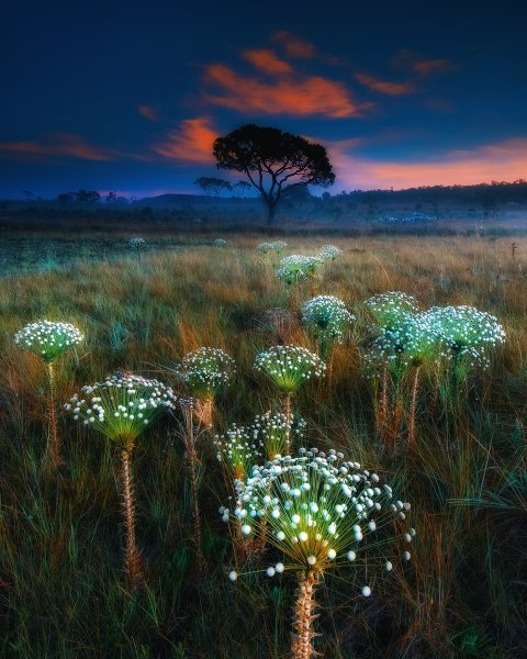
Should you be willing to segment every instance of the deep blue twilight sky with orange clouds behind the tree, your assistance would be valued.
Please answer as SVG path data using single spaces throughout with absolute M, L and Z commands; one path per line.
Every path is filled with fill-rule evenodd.
M 0 198 L 235 182 L 212 143 L 246 123 L 323 144 L 332 194 L 527 178 L 526 25 L 518 0 L 10 2 Z

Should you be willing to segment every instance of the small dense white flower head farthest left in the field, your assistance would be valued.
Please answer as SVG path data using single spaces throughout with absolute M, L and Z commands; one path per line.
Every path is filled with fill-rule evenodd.
M 51 362 L 79 344 L 85 337 L 70 323 L 38 321 L 25 325 L 14 335 L 14 343 Z

